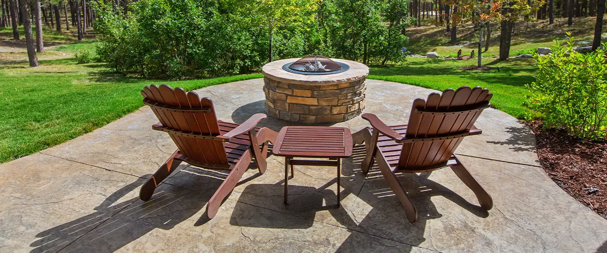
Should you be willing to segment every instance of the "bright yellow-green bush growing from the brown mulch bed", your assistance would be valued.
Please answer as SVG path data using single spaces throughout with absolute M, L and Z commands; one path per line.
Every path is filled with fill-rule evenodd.
M 543 113 L 546 127 L 602 140 L 607 123 L 607 43 L 595 52 L 577 53 L 572 50 L 574 38 L 569 37 L 565 46 L 555 41 L 550 55 L 534 53 L 538 72 L 536 81 L 527 84 L 532 93 L 527 105 Z

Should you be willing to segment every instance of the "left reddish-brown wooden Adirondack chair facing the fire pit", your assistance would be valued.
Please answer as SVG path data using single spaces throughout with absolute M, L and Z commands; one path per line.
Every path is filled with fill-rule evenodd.
M 266 127 L 256 127 L 266 118 L 265 114 L 257 113 L 239 125 L 217 120 L 211 100 L 200 99 L 195 92 L 186 93 L 181 88 L 172 89 L 163 84 L 146 86 L 141 95 L 143 103 L 150 106 L 160 120 L 152 129 L 169 133 L 177 145 L 177 150 L 141 187 L 141 200 L 149 200 L 160 182 L 182 161 L 206 169 L 229 170 L 228 177 L 206 206 L 206 214 L 213 218 L 248 168 L 251 156 L 259 172 L 265 172 L 268 143 L 274 143 L 277 135 Z M 263 144 L 261 149 L 260 144 Z

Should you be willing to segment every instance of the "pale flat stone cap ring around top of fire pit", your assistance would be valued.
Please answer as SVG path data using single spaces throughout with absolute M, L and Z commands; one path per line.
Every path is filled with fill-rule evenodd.
M 325 84 L 340 84 L 357 81 L 365 78 L 369 74 L 369 67 L 365 64 L 356 61 L 348 61 L 347 59 L 332 59 L 333 61 L 343 62 L 350 66 L 346 72 L 329 74 L 329 75 L 301 75 L 297 73 L 287 72 L 282 69 L 282 66 L 297 61 L 299 58 L 281 59 L 265 64 L 262 67 L 262 73 L 268 78 L 275 79 L 291 84 L 307 84 L 307 85 L 325 85 Z

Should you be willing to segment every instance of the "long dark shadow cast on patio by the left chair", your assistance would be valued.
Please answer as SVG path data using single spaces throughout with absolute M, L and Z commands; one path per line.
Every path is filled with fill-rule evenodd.
M 93 209 L 95 212 L 37 234 L 38 240 L 30 244 L 35 247 L 32 252 L 56 252 L 61 249 L 67 252 L 114 252 L 154 229 L 173 229 L 197 214 L 222 183 L 222 177 L 225 177 L 214 170 L 192 166 L 184 166 L 180 170 L 180 173 L 183 172 L 186 172 L 183 176 L 175 174 L 167 179 L 173 183 L 177 181 L 175 185 L 178 187 L 163 183 L 149 201 L 143 202 L 135 197 L 116 203 L 130 192 L 138 192 L 147 181 L 138 178 L 107 197 Z M 243 178 L 239 184 L 259 175 Z M 180 177 L 184 177 L 183 180 Z

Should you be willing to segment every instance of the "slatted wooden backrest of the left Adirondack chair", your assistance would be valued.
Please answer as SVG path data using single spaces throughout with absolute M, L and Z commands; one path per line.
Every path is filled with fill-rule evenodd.
M 220 135 L 219 124 L 211 100 L 202 100 L 195 92 L 186 93 L 183 89 L 172 89 L 166 84 L 160 87 L 144 87 L 141 94 L 148 100 L 155 101 L 152 107 L 154 114 L 163 126 L 183 132 L 202 135 Z M 192 110 L 162 110 L 163 106 L 190 107 Z M 194 108 L 201 108 L 195 110 Z M 206 108 L 206 109 L 205 109 Z M 211 110 L 208 110 L 211 108 Z M 227 164 L 228 157 L 222 141 L 201 140 L 169 133 L 178 149 L 186 157 L 206 164 Z

